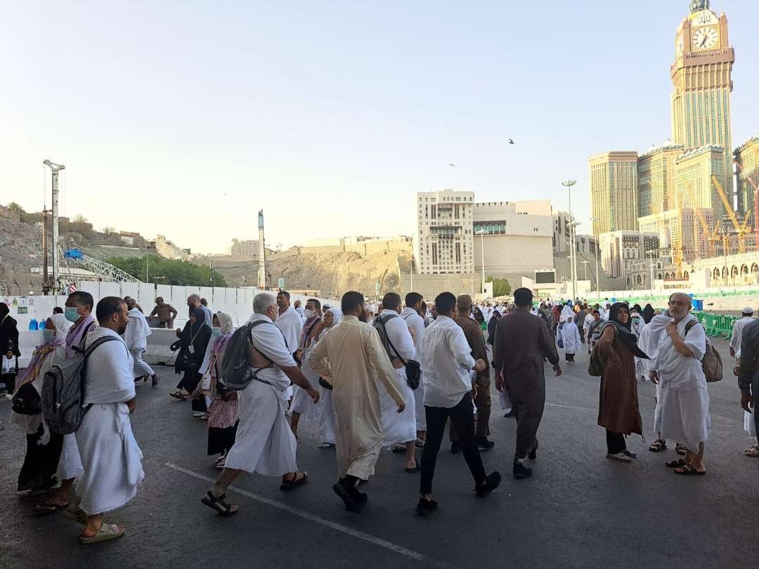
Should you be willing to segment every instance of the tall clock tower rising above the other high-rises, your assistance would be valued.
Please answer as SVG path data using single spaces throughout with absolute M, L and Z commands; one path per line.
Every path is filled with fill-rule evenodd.
M 690 12 L 675 36 L 672 140 L 686 152 L 722 147 L 718 178 L 732 201 L 730 93 L 735 51 L 727 35 L 727 16 L 711 11 L 709 0 L 692 0 Z

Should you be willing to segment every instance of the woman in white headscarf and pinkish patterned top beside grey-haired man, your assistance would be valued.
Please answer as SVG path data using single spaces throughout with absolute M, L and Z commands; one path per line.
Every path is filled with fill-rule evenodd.
M 224 468 L 227 451 L 235 444 L 238 423 L 237 393 L 225 388 L 222 380 L 222 362 L 229 338 L 235 325 L 228 314 L 213 315 L 211 334 L 206 358 L 200 366 L 203 380 L 195 390 L 195 396 L 205 396 L 208 405 L 208 455 L 219 454 L 216 468 Z

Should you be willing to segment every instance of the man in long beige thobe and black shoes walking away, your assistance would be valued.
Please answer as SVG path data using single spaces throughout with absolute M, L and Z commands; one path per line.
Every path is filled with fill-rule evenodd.
M 332 490 L 345 502 L 346 510 L 360 512 L 367 495 L 356 487 L 359 480 L 373 475 L 384 438 L 377 380 L 398 404 L 398 413 L 405 404 L 395 387 L 395 368 L 376 330 L 366 322 L 364 295 L 345 293 L 342 313 L 342 322 L 313 347 L 308 365 L 332 382 L 339 475 Z

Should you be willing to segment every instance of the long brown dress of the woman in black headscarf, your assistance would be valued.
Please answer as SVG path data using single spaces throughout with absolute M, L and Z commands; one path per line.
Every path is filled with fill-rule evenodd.
M 624 435 L 635 432 L 642 435 L 635 355 L 624 342 L 617 339 L 616 330 L 613 341 L 601 339 L 598 349 L 605 362 L 601 373 L 598 425 L 609 432 Z

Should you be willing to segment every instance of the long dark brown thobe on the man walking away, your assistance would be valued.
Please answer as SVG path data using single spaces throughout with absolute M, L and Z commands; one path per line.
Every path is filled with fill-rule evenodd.
M 559 354 L 546 322 L 517 310 L 499 320 L 493 343 L 496 373 L 503 373 L 506 392 L 517 417 L 515 458 L 537 448 L 537 428 L 546 405 L 544 360 L 556 365 Z

